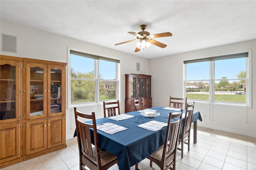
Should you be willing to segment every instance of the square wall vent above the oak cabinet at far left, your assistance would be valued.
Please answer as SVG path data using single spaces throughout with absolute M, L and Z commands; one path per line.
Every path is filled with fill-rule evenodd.
M 1 34 L 1 51 L 17 53 L 17 36 Z

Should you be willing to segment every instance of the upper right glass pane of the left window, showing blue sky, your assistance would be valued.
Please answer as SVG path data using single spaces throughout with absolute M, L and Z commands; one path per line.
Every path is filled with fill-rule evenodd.
M 116 80 L 116 63 L 100 59 L 99 79 Z

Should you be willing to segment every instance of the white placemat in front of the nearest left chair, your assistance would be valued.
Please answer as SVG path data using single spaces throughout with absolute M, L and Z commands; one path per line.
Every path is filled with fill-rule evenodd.
M 102 132 L 105 132 L 107 134 L 114 134 L 117 132 L 121 132 L 123 130 L 126 130 L 127 128 L 121 127 L 119 125 L 116 125 L 114 123 L 102 123 L 97 125 L 97 130 L 100 130 Z

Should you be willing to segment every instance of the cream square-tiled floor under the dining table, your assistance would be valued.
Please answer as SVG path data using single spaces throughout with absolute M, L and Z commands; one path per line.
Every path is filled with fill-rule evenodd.
M 198 127 L 197 141 L 196 144 L 190 145 L 189 152 L 187 148 L 184 149 L 185 155 L 182 159 L 180 151 L 177 151 L 177 170 L 256 170 L 256 138 Z M 67 148 L 2 170 L 79 170 L 77 139 L 66 140 L 66 143 Z M 131 170 L 134 170 L 134 167 Z M 151 168 L 147 159 L 139 163 L 139 168 L 160 169 L 156 164 Z M 110 170 L 118 170 L 118 166 L 114 165 Z

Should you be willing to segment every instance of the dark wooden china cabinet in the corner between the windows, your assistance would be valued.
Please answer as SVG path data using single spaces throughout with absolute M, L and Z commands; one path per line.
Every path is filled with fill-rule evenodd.
M 152 107 L 151 75 L 125 75 L 125 113 L 135 111 L 133 99 L 144 98 L 144 107 Z

